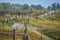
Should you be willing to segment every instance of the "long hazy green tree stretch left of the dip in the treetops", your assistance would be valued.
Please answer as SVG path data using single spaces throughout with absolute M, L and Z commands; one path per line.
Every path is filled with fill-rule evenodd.
M 38 5 L 28 5 L 28 4 L 10 4 L 10 3 L 0 3 L 0 10 L 41 10 L 43 7 Z

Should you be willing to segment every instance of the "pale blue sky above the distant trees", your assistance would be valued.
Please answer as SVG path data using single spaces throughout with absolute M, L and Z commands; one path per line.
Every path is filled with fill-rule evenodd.
M 15 3 L 15 4 L 41 4 L 44 7 L 51 5 L 52 3 L 60 3 L 60 0 L 0 0 L 0 2 L 5 3 Z

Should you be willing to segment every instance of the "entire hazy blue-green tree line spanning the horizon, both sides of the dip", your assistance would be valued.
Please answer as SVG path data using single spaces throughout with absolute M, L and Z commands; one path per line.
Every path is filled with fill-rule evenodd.
M 28 4 L 10 4 L 10 3 L 0 3 L 0 10 L 42 10 L 42 9 L 48 9 L 48 10 L 57 10 L 60 9 L 59 3 L 53 3 L 51 6 L 48 6 L 47 8 L 43 7 L 40 4 L 34 5 L 28 5 Z

